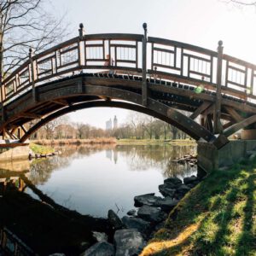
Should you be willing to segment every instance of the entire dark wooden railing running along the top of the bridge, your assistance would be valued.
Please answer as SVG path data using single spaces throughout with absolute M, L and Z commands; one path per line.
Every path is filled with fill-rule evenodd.
M 82 29 L 82 28 L 81 28 Z M 28 61 L 3 80 L 1 102 L 14 100 L 43 82 L 73 73 L 110 71 L 143 74 L 143 38 L 139 34 L 93 34 L 72 38 Z M 188 84 L 204 84 L 215 91 L 221 81 L 222 93 L 256 99 L 256 66 L 217 51 L 163 38 L 147 38 L 148 77 Z M 218 74 L 218 61 L 222 69 Z M 144 62 L 145 63 L 145 62 Z M 217 77 L 220 76 L 220 79 Z

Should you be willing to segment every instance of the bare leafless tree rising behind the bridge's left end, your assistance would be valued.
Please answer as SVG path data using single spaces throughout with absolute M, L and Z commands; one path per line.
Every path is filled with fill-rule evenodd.
M 49 0 L 0 1 L 0 82 L 27 58 L 56 44 L 67 32 L 62 18 L 46 11 Z

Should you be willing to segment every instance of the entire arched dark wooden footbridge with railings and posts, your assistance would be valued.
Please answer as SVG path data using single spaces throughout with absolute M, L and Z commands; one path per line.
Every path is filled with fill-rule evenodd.
M 224 55 L 222 42 L 215 52 L 147 37 L 143 28 L 143 35 L 84 35 L 81 24 L 79 37 L 38 55 L 30 51 L 3 80 L 0 134 L 24 142 L 64 113 L 117 107 L 148 113 L 221 148 L 255 123 L 255 65 Z M 26 131 L 33 119 L 41 120 Z

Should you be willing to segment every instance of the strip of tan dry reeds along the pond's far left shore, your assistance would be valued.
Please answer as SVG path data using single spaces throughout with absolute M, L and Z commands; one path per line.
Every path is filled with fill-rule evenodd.
M 32 143 L 38 145 L 51 145 L 51 146 L 61 146 L 61 145 L 81 145 L 81 144 L 113 144 L 116 143 L 114 137 L 97 137 L 91 139 L 56 139 L 56 140 L 34 140 Z

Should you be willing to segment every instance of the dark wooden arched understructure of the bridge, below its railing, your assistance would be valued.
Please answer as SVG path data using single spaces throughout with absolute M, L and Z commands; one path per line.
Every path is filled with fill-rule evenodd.
M 2 109 L 0 134 L 26 139 L 42 125 L 62 114 L 82 108 L 115 107 L 147 113 L 162 119 L 189 134 L 195 140 L 204 140 L 221 148 L 228 143 L 227 137 L 256 122 L 256 106 L 241 104 L 241 100 L 223 96 L 221 118 L 223 135 L 213 134 L 215 93 L 195 93 L 195 87 L 148 79 L 148 104 L 142 102 L 142 79 L 129 75 L 108 77 L 108 74 L 79 74 L 48 84 L 38 85 L 37 100 L 32 90 L 9 102 Z M 186 111 L 189 116 L 179 110 Z M 201 124 L 195 119 L 201 116 Z M 37 120 L 30 130 L 25 124 Z

